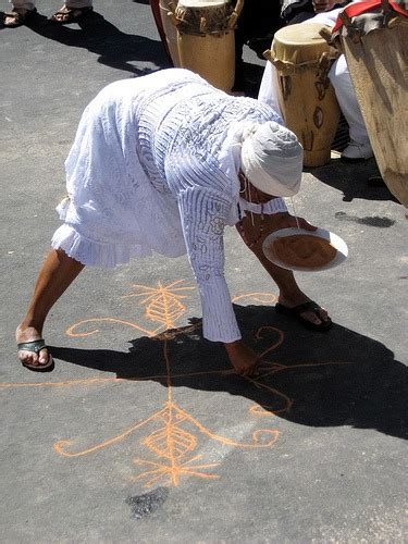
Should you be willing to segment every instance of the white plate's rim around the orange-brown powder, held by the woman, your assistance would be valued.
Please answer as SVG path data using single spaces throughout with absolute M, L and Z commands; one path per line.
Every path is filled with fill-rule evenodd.
M 317 238 L 323 238 L 329 240 L 330 244 L 336 249 L 336 256 L 334 257 L 334 259 L 332 259 L 323 267 L 304 268 L 304 267 L 289 267 L 288 264 L 285 264 L 277 258 L 277 256 L 273 251 L 273 243 L 277 238 L 283 238 L 286 236 L 295 236 L 299 234 L 307 234 L 308 236 L 316 236 Z M 317 272 L 319 270 L 332 269 L 341 264 L 343 261 L 345 261 L 348 256 L 348 248 L 344 239 L 342 239 L 336 234 L 331 233 L 330 231 L 325 231 L 324 228 L 318 228 L 317 231 L 306 231 L 305 228 L 290 227 L 290 228 L 282 228 L 281 231 L 275 231 L 274 233 L 267 236 L 267 238 L 263 240 L 262 250 L 267 259 L 269 259 L 274 264 L 277 264 L 279 267 L 286 270 L 295 270 L 295 271 L 298 270 L 301 272 Z

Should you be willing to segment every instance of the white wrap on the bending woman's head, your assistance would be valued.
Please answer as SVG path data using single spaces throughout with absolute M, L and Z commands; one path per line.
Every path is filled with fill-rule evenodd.
M 299 190 L 304 150 L 286 127 L 269 121 L 245 131 L 242 170 L 251 185 L 267 195 L 292 197 Z

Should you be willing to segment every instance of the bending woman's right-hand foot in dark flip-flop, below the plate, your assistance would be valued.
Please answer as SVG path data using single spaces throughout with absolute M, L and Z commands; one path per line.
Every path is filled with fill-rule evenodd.
M 332 325 L 327 310 L 310 300 L 302 292 L 293 295 L 279 296 L 276 311 L 296 317 L 306 327 L 326 330 Z

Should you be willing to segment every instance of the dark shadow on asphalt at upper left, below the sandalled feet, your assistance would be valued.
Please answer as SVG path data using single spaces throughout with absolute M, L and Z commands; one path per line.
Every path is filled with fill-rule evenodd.
M 87 49 L 99 55 L 101 64 L 135 75 L 152 70 L 138 69 L 133 62 L 153 63 L 158 69 L 171 66 L 161 41 L 125 34 L 95 11 L 77 24 L 79 29 L 55 25 L 45 15 L 36 13 L 26 26 L 47 39 Z

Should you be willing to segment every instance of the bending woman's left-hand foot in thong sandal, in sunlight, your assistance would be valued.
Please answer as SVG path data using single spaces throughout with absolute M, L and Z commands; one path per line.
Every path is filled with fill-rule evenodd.
M 53 360 L 41 334 L 34 326 L 20 325 L 15 333 L 21 363 L 34 371 L 53 369 Z

